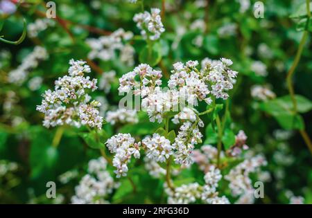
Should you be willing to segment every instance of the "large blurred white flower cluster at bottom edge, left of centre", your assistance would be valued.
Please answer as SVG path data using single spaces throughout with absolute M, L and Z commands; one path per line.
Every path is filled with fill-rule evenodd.
M 106 167 L 107 161 L 103 157 L 89 161 L 88 174 L 83 176 L 76 186 L 71 203 L 108 203 L 105 197 L 111 194 L 114 188 L 118 188 L 119 184 L 114 182 Z

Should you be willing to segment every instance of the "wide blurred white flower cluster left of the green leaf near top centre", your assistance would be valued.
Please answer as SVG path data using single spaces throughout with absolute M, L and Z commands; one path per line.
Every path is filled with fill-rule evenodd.
M 121 61 L 128 66 L 134 64 L 134 48 L 130 45 L 125 45 L 123 41 L 128 41 L 133 36 L 133 33 L 130 31 L 125 32 L 122 28 L 114 31 L 111 35 L 102 36 L 98 39 L 89 38 L 87 39 L 87 44 L 92 49 L 88 53 L 88 57 L 91 60 L 112 60 L 116 57 L 116 52 L 121 53 Z

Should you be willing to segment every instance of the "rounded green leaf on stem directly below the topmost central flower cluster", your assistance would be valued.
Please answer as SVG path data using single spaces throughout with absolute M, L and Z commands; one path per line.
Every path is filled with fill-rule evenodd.
M 146 45 L 139 53 L 139 61 L 150 66 L 155 66 L 162 60 L 162 48 L 158 43 L 153 44 L 151 48 Z

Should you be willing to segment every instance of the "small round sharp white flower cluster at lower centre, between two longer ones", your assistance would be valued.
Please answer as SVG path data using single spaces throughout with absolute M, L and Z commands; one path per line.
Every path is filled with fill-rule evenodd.
M 170 141 L 159 134 L 144 138 L 142 145 L 146 147 L 146 156 L 156 162 L 165 162 L 173 154 Z

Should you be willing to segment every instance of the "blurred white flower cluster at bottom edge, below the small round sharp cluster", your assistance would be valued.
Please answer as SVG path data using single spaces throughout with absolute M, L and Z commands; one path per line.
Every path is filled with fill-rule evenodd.
M 198 183 L 183 184 L 175 188 L 174 192 L 166 187 L 166 183 L 164 185 L 165 192 L 168 194 L 167 201 L 170 204 L 188 204 L 200 199 L 200 185 Z

